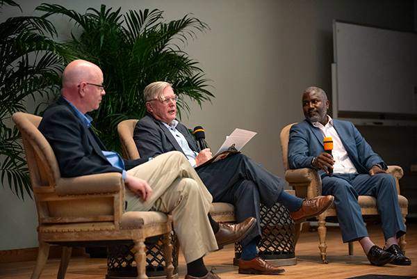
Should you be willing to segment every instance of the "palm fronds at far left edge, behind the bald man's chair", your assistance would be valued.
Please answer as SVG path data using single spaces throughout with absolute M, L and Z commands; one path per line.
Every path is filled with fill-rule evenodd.
M 0 8 L 5 4 L 20 8 L 15 1 L 0 0 Z M 31 197 L 31 180 L 21 137 L 10 118 L 15 111 L 26 111 L 28 102 L 39 102 L 60 88 L 63 65 L 73 58 L 50 39 L 55 35 L 43 17 L 9 17 L 0 23 L 0 176 L 1 184 L 8 182 L 22 199 L 24 193 Z M 40 110 L 38 106 L 35 113 Z

